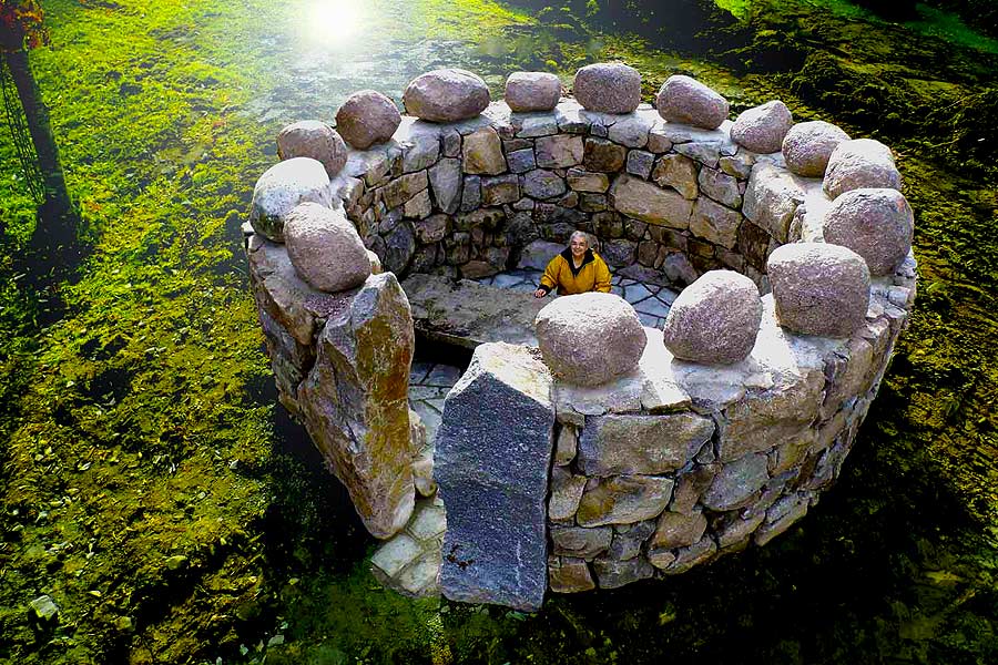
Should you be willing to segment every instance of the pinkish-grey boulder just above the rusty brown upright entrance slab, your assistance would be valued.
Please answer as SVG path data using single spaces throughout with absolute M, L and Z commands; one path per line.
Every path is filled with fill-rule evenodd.
M 370 276 L 367 249 L 343 208 L 296 206 L 284 224 L 284 242 L 295 272 L 317 290 L 346 290 Z

